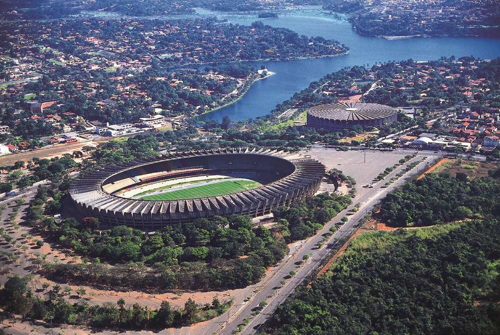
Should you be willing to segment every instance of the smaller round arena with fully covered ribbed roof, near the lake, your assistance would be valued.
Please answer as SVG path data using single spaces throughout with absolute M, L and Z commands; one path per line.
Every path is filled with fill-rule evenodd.
M 340 132 L 354 125 L 380 127 L 397 120 L 397 109 L 378 103 L 336 102 L 307 110 L 307 126 Z

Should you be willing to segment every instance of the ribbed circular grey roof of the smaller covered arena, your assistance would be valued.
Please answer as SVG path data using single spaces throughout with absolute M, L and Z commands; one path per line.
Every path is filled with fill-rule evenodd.
M 314 106 L 307 110 L 314 117 L 332 120 L 372 120 L 393 116 L 397 109 L 378 103 L 335 102 Z

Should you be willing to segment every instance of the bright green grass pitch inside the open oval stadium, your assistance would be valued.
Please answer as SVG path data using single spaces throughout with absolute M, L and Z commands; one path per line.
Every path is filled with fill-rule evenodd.
M 215 196 L 234 193 L 262 185 L 252 180 L 227 180 L 208 185 L 183 188 L 171 192 L 143 196 L 141 200 L 180 200 L 196 197 Z

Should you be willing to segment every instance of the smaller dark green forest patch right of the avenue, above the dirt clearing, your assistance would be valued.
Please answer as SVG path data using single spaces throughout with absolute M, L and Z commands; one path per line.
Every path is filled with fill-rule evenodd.
M 472 167 L 473 168 L 473 167 Z M 393 226 L 423 226 L 465 218 L 500 218 L 500 172 L 469 180 L 463 172 L 427 173 L 387 194 L 380 219 Z

